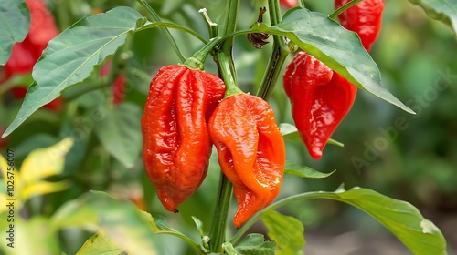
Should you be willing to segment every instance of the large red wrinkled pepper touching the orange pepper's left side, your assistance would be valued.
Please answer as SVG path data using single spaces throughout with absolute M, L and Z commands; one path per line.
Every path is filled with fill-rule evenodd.
M 186 66 L 164 66 L 151 82 L 141 122 L 143 164 L 167 210 L 177 212 L 207 175 L 207 120 L 224 92 L 218 76 Z

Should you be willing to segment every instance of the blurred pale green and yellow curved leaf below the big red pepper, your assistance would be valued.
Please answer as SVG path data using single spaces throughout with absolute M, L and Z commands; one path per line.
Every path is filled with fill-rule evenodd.
M 51 225 L 56 229 L 76 226 L 101 231 L 118 249 L 129 254 L 160 254 L 154 243 L 151 215 L 132 202 L 104 192 L 92 191 L 67 202 L 52 217 Z

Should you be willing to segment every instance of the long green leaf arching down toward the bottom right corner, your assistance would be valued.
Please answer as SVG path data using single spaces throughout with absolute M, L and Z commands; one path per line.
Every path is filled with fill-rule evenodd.
M 396 235 L 414 254 L 447 254 L 446 240 L 433 222 L 405 201 L 390 199 L 371 189 L 337 189 L 335 192 L 308 192 L 271 205 L 275 209 L 302 199 L 333 199 L 367 212 Z

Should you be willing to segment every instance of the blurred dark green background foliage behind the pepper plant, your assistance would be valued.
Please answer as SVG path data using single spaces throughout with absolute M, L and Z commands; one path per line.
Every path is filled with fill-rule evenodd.
M 215 22 L 220 22 L 223 0 L 163 0 L 148 1 L 165 21 L 189 26 L 207 37 L 207 26 L 197 10 L 207 8 Z M 333 1 L 306 1 L 307 7 L 324 14 L 333 12 Z M 60 29 L 65 29 L 85 15 L 107 11 L 118 5 L 130 5 L 143 11 L 135 1 L 126 0 L 60 0 L 48 1 Z M 249 28 L 257 19 L 257 10 L 264 1 L 241 1 L 239 29 Z M 268 20 L 265 18 L 264 20 Z M 219 24 L 221 25 L 221 24 Z M 175 40 L 185 56 L 191 56 L 201 44 L 183 32 L 172 30 Z M 256 50 L 246 37 L 235 40 L 234 55 L 240 87 L 255 94 L 267 65 L 271 48 Z M 408 1 L 386 1 L 383 28 L 371 51 L 381 71 L 383 84 L 417 115 L 412 116 L 397 107 L 359 90 L 356 103 L 334 137 L 345 148 L 327 146 L 324 157 L 315 161 L 308 156 L 303 144 L 287 141 L 287 158 L 323 172 L 337 169 L 328 179 L 300 179 L 286 176 L 280 198 L 304 191 L 335 190 L 341 183 L 346 189 L 360 186 L 374 189 L 394 199 L 409 201 L 418 207 L 426 218 L 435 221 L 444 231 L 450 246 L 457 245 L 457 236 L 446 231 L 449 222 L 456 226 L 457 215 L 457 42 L 452 32 L 440 22 L 431 20 L 422 9 Z M 122 59 L 120 68 L 127 76 L 122 105 L 143 111 L 149 82 L 155 72 L 165 65 L 179 62 L 175 52 L 159 29 L 138 33 L 130 47 L 122 48 L 116 55 Z M 292 56 L 290 57 L 292 59 Z M 290 61 L 290 59 L 286 62 Z M 206 69 L 216 72 L 208 59 Z M 65 201 L 76 199 L 84 192 L 107 190 L 112 194 L 131 199 L 153 216 L 163 215 L 171 226 L 198 239 L 191 216 L 201 219 L 204 230 L 209 229 L 213 204 L 218 186 L 219 169 L 216 157 L 211 158 L 207 179 L 197 193 L 181 207 L 179 214 L 165 211 L 156 198 L 155 190 L 143 172 L 139 149 L 133 144 L 130 152 L 134 159 L 129 168 L 114 158 L 102 145 L 95 129 L 112 106 L 107 104 L 111 85 L 100 83 L 93 74 L 78 87 L 70 87 L 63 94 L 64 108 L 59 112 L 40 109 L 27 119 L 6 141 L 5 148 L 16 151 L 16 165 L 35 148 L 44 148 L 61 138 L 73 137 L 75 144 L 69 150 L 63 174 L 58 179 L 68 179 L 69 189 L 30 199 L 21 215 L 26 219 L 34 215 L 48 217 Z M 0 98 L 0 126 L 13 120 L 21 100 L 5 93 Z M 293 124 L 290 104 L 285 97 L 280 80 L 275 88 L 271 105 L 278 122 Z M 120 106 L 117 106 L 120 107 Z M 113 109 L 116 110 L 116 107 Z M 131 115 L 122 111 L 124 116 Z M 141 137 L 141 115 L 133 114 L 131 132 Z M 135 120 L 136 119 L 136 123 Z M 401 128 L 398 127 L 401 119 Z M 396 126 L 397 125 L 397 126 Z M 116 139 L 113 135 L 112 139 Z M 2 154 L 5 152 L 2 149 Z M 4 154 L 5 155 L 5 154 Z M 235 199 L 232 200 L 235 211 Z M 334 201 L 294 203 L 281 209 L 303 221 L 305 232 L 335 235 L 348 230 L 359 230 L 367 235 L 385 236 L 386 230 L 357 209 Z M 229 222 L 231 226 L 231 222 Z M 446 227 L 448 226 L 448 227 Z M 254 228 L 262 228 L 260 225 Z M 60 233 L 64 252 L 74 254 L 92 233 L 68 229 Z M 388 236 L 389 237 L 389 236 Z M 169 254 L 186 254 L 186 243 L 173 237 L 158 237 L 167 246 Z M 173 245 L 172 245 L 173 244 Z M 308 242 L 308 245 L 313 243 Z

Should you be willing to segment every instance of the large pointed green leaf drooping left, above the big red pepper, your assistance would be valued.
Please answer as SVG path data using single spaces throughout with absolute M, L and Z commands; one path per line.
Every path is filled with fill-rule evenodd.
M 49 41 L 34 66 L 35 82 L 4 137 L 67 87 L 80 83 L 105 59 L 125 44 L 133 32 L 145 24 L 145 18 L 130 7 L 116 7 L 106 14 L 81 19 Z

